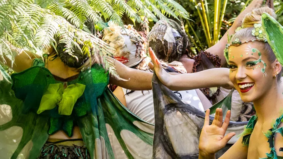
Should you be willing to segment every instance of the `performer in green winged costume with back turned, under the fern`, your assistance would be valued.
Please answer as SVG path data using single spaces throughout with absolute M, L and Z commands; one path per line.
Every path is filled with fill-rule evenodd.
M 129 69 L 102 53 L 88 69 L 88 56 L 77 53 L 76 60 L 63 49 L 61 44 L 58 54 L 32 58 L 32 67 L 11 77 L 0 67 L 1 158 L 151 158 L 154 126 L 125 109 L 107 85 L 111 81 L 137 89 L 138 80 L 143 83 L 139 88 L 150 89 L 152 73 Z M 17 58 L 15 69 L 24 69 L 25 63 Z M 86 68 L 77 69 L 82 65 Z M 105 65 L 116 66 L 121 78 L 109 77 L 111 70 Z M 80 134 L 77 126 L 85 146 L 49 140 L 49 135 L 56 139 L 60 130 L 67 142 L 81 140 L 72 138 L 73 133 Z

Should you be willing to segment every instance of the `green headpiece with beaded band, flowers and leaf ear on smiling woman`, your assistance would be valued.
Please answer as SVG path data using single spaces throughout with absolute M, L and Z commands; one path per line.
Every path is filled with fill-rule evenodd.
M 283 27 L 279 24 L 272 16 L 268 13 L 263 13 L 261 16 L 262 24 L 255 24 L 254 29 L 252 30 L 252 35 L 256 37 L 255 40 L 240 41 L 235 39 L 230 43 L 231 37 L 228 35 L 228 43 L 224 49 L 224 56 L 228 62 L 228 48 L 230 46 L 240 46 L 244 43 L 254 42 L 254 41 L 263 41 L 267 42 L 277 60 L 283 66 Z M 235 32 L 239 31 L 241 28 L 237 28 Z M 281 54 L 280 54 L 281 53 Z

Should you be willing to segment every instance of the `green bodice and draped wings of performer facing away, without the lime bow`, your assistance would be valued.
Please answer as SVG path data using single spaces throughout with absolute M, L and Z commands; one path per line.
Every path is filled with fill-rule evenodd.
M 5 75 L 5 78 L 1 78 L 1 75 Z M 13 153 L 9 158 L 25 156 L 22 150 L 26 150 L 29 142 L 32 142 L 32 146 L 28 151 L 29 155 L 24 158 L 37 158 L 49 134 L 63 130 L 72 136 L 74 125 L 79 126 L 91 159 L 151 158 L 154 125 L 127 110 L 107 88 L 108 81 L 108 72 L 98 64 L 66 83 L 56 81 L 49 70 L 42 66 L 31 67 L 13 74 L 11 78 L 2 69 L 0 107 L 3 104 L 9 105 L 13 118 L 2 125 L 0 119 L 0 132 L 14 126 L 23 129 L 16 150 L 8 149 Z M 85 85 L 85 90 L 73 106 L 71 115 L 59 114 L 58 104 L 37 114 L 42 96 L 50 84 Z M 3 141 L 1 137 L 0 141 Z M 2 142 L 0 146 L 1 144 Z

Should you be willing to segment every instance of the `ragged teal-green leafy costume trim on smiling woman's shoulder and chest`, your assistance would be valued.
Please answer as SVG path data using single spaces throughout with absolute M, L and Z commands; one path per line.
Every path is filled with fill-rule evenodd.
M 249 140 L 252 134 L 252 131 L 255 128 L 255 123 L 257 121 L 257 116 L 252 116 L 252 118 L 249 120 L 248 125 L 246 126 L 243 134 L 243 140 L 242 144 L 243 146 L 249 145 Z M 279 124 L 283 121 L 283 115 L 276 119 L 275 124 L 272 126 L 271 129 L 269 129 L 264 135 L 268 138 L 268 143 L 270 147 L 270 153 L 266 153 L 266 158 L 260 158 L 260 159 L 283 159 L 281 156 L 277 156 L 275 147 L 274 147 L 274 137 L 276 133 L 280 133 L 283 136 L 283 127 L 278 128 Z M 279 151 L 283 151 L 283 148 L 280 148 Z

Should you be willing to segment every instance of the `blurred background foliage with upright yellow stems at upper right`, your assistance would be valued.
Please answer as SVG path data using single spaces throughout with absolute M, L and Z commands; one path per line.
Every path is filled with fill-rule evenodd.
M 190 14 L 183 20 L 193 53 L 213 46 L 252 0 L 177 0 Z M 283 1 L 274 0 L 278 21 L 283 25 Z M 219 27 L 220 26 L 220 27 Z

